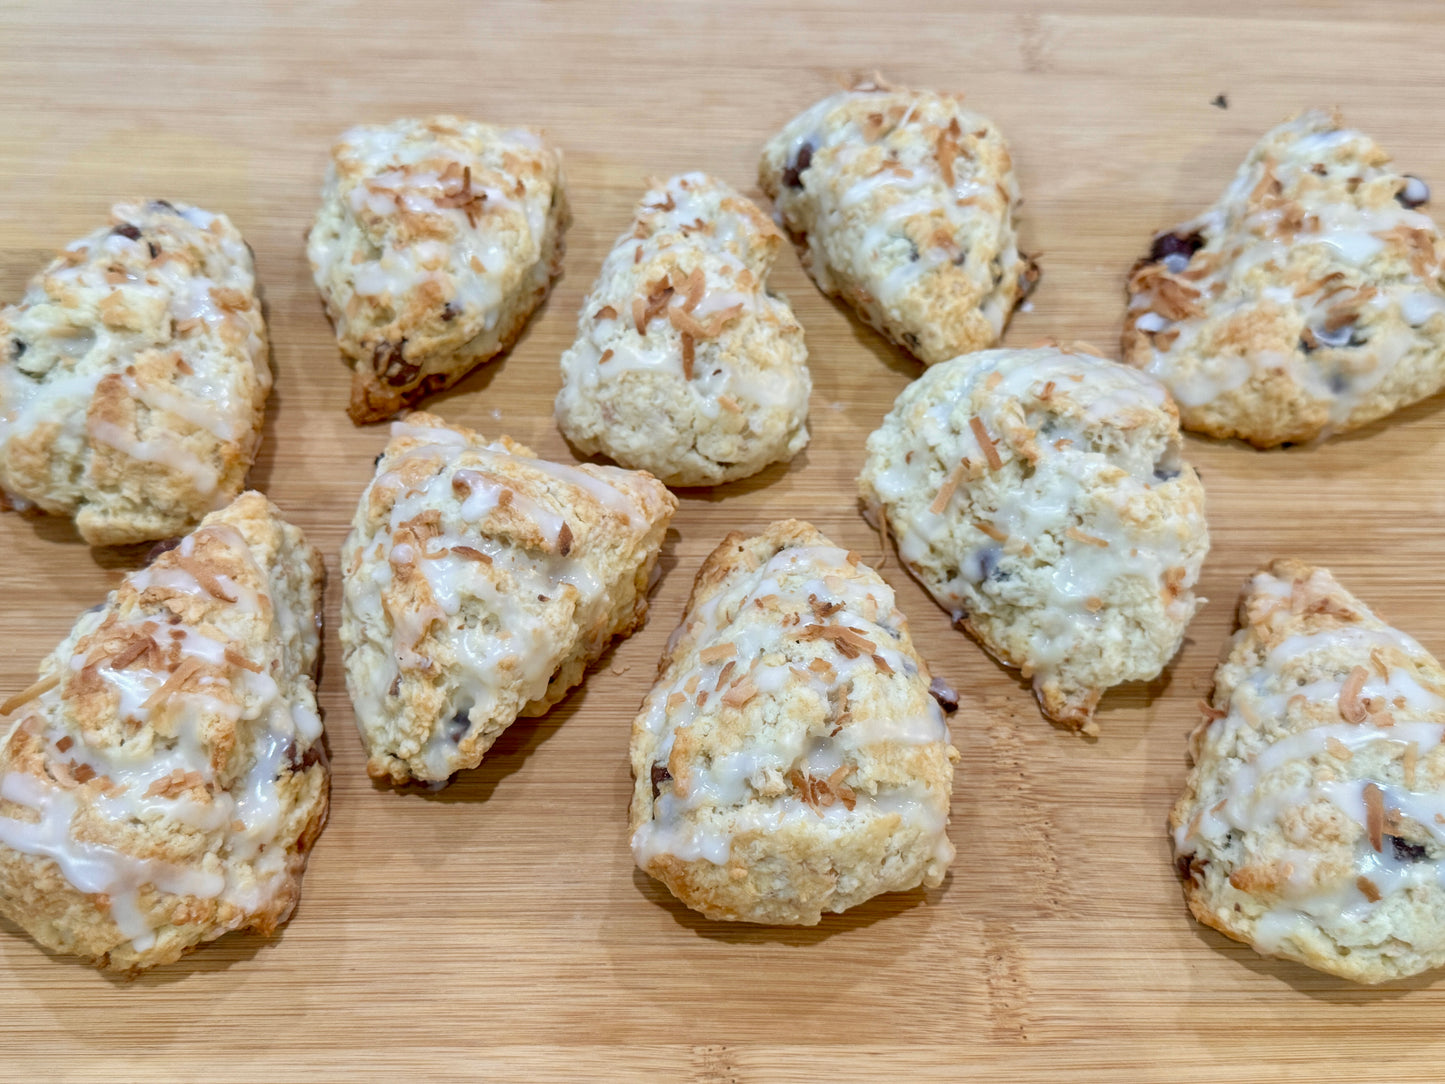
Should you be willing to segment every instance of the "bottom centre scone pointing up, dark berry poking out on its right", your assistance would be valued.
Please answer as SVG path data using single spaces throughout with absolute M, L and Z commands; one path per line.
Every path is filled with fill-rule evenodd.
M 708 918 L 814 925 L 944 880 L 958 752 L 887 584 L 799 520 L 702 562 L 631 731 L 637 866 Z

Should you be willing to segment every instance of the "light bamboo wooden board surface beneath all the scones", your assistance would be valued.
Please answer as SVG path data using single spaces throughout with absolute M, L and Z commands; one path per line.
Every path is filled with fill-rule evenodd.
M 565 279 L 510 357 L 431 406 L 566 460 L 558 356 L 643 178 L 707 169 L 756 192 L 763 140 L 840 75 L 962 90 L 1000 124 L 1023 244 L 1045 269 L 1006 341 L 1114 351 L 1123 279 L 1152 230 L 1212 201 L 1283 116 L 1340 104 L 1403 169 L 1445 185 L 1442 52 L 1445 9 L 1383 0 L 4 4 L 0 298 L 133 194 L 223 210 L 256 249 L 277 383 L 251 480 L 328 555 L 334 782 L 276 938 L 231 935 L 127 983 L 0 929 L 0 1077 L 1439 1080 L 1445 986 L 1360 989 L 1201 929 L 1163 821 L 1260 561 L 1325 562 L 1445 650 L 1445 399 L 1315 448 L 1191 439 L 1211 603 L 1157 681 L 1104 700 L 1094 743 L 1048 726 L 890 559 L 920 650 L 964 694 L 952 874 L 814 929 L 720 925 L 633 869 L 631 715 L 727 530 L 805 515 L 873 552 L 853 478 L 916 363 L 785 254 L 775 283 L 812 354 L 806 452 L 685 496 L 647 626 L 449 789 L 392 791 L 363 770 L 335 637 L 335 555 L 384 432 L 342 413 L 348 373 L 301 237 L 351 123 L 452 110 L 543 124 L 575 212 Z M 1209 104 L 1220 93 L 1227 110 Z M 13 691 L 137 554 L 17 516 L 0 517 L 0 689 Z

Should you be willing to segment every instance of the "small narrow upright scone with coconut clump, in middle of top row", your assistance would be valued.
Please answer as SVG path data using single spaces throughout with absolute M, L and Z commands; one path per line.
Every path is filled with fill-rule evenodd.
M 767 292 L 783 236 L 705 173 L 655 185 L 562 356 L 556 422 L 578 449 L 669 486 L 715 486 L 808 444 L 808 348 Z

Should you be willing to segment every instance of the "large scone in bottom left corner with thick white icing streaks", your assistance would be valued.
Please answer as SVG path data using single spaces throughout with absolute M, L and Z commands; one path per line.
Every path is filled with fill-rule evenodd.
M 322 577 L 244 493 L 77 621 L 4 704 L 0 913 L 116 971 L 290 916 L 327 820 Z

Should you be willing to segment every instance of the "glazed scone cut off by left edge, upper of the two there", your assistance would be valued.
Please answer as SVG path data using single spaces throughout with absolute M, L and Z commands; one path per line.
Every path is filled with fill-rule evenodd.
M 231 221 L 116 204 L 0 309 L 0 489 L 91 545 L 182 535 L 246 484 L 272 386 Z

